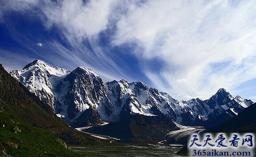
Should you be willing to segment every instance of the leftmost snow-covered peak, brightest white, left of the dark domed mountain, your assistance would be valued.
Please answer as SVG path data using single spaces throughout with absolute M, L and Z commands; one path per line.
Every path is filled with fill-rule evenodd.
M 55 104 L 54 84 L 68 73 L 70 71 L 67 69 L 50 67 L 40 60 L 29 63 L 20 71 L 10 72 L 12 77 L 19 80 L 30 92 L 53 109 Z

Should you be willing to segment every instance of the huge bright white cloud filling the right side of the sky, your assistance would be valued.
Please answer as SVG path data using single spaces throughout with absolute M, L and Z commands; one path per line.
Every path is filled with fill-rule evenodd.
M 161 90 L 206 99 L 256 77 L 255 3 L 150 0 L 122 16 L 113 43 L 136 42 L 141 61 L 162 60 L 161 77 L 171 85 Z

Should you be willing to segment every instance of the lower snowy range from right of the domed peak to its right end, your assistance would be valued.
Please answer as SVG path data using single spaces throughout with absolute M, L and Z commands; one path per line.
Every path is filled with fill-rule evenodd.
M 124 115 L 124 111 L 126 114 L 131 113 L 133 115 L 164 114 L 176 123 L 183 125 L 191 125 L 199 117 L 202 121 L 207 121 L 210 117 L 218 117 L 226 112 L 230 113 L 229 118 L 231 118 L 253 103 L 251 100 L 242 99 L 240 96 L 233 98 L 224 88 L 220 88 L 208 100 L 203 101 L 196 98 L 179 101 L 165 92 L 159 92 L 156 88 L 146 86 L 142 82 L 114 80 L 107 82 L 106 87 L 114 108 L 112 115 L 115 117 Z

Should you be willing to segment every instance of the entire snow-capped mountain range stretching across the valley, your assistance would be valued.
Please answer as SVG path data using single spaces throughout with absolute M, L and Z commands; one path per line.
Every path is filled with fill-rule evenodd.
M 240 96 L 234 98 L 224 88 L 208 100 L 179 101 L 140 81 L 113 80 L 104 84 L 87 67 L 71 72 L 40 60 L 10 74 L 75 127 L 115 122 L 128 115 L 165 115 L 183 125 L 206 125 L 219 116 L 235 116 L 253 103 Z

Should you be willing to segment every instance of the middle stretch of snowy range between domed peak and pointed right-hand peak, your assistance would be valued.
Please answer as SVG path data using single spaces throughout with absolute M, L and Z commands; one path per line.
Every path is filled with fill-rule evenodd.
M 148 116 L 164 114 L 177 123 L 190 125 L 196 115 L 208 115 L 210 111 L 200 99 L 178 101 L 142 82 L 113 80 L 107 82 L 106 87 L 114 108 L 114 117 L 124 115 L 125 112 Z

